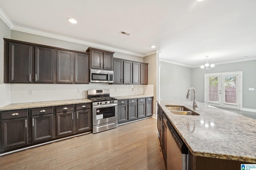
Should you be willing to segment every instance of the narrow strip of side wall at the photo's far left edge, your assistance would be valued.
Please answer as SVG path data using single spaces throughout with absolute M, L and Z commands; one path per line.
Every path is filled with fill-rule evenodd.
M 4 39 L 11 37 L 10 28 L 0 19 L 0 107 L 10 104 L 10 85 L 4 84 Z

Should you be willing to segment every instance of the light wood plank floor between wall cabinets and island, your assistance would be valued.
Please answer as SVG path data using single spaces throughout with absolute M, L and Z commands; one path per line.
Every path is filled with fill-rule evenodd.
M 156 119 L 0 157 L 1 170 L 165 170 Z

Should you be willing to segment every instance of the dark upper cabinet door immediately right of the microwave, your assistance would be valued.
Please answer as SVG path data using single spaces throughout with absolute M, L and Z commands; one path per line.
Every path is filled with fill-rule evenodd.
M 114 59 L 114 84 L 123 84 L 123 61 Z

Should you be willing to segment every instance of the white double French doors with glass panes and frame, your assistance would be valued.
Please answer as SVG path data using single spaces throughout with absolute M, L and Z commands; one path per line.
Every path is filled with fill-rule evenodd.
M 205 74 L 206 104 L 231 109 L 242 107 L 242 72 Z

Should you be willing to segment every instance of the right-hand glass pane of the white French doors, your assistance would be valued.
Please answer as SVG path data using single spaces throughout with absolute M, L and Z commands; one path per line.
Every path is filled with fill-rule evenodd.
M 224 76 L 225 80 L 225 103 L 236 104 L 237 76 Z

